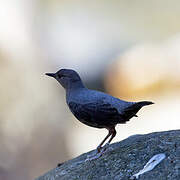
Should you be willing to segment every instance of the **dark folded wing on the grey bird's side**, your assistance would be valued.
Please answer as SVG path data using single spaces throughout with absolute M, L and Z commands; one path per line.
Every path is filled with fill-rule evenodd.
M 98 119 L 99 121 L 117 121 L 120 115 L 116 108 L 104 101 L 96 101 L 86 104 L 70 102 L 68 105 L 76 118 L 88 121 L 90 119 Z

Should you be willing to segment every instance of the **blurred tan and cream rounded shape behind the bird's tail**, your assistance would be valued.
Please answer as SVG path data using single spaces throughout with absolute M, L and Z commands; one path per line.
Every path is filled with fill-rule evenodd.
M 135 100 L 178 92 L 179 44 L 180 34 L 163 43 L 133 46 L 108 68 L 105 74 L 106 89 L 115 96 Z

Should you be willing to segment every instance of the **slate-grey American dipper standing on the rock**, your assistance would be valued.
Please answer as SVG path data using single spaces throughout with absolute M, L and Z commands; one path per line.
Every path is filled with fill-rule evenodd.
M 82 123 L 106 128 L 109 133 L 97 147 L 101 152 L 102 145 L 110 137 L 107 145 L 116 136 L 115 126 L 129 121 L 150 101 L 128 102 L 106 93 L 86 88 L 79 74 L 72 69 L 60 69 L 56 73 L 46 73 L 55 78 L 66 90 L 66 102 L 74 116 Z

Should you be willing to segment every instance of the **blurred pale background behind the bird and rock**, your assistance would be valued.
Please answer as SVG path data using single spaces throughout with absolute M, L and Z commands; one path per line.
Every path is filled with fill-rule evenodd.
M 151 100 L 115 141 L 180 129 L 180 1 L 0 0 L 0 179 L 31 180 L 97 147 L 45 72 L 77 70 L 89 88 Z

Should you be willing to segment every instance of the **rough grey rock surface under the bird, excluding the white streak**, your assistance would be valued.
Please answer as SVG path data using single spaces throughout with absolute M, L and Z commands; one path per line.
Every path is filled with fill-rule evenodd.
M 180 130 L 134 135 L 110 145 L 99 159 L 85 161 L 93 152 L 69 160 L 36 180 L 126 180 L 159 153 L 166 158 L 138 179 L 180 180 Z

